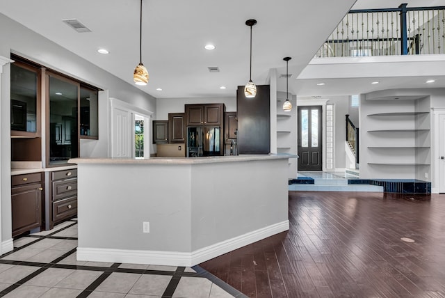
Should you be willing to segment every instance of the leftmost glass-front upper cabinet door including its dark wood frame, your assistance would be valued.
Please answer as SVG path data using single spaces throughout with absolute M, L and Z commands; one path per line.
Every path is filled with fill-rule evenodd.
M 40 70 L 15 62 L 10 72 L 11 136 L 40 136 Z

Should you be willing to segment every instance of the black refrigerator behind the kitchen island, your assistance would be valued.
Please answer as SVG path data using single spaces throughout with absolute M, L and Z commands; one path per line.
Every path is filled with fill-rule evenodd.
M 219 126 L 188 126 L 187 157 L 221 155 Z

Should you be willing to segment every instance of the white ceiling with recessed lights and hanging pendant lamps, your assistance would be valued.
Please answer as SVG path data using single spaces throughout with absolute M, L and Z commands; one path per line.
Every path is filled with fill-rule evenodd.
M 266 84 L 270 68 L 284 73 L 285 56 L 292 57 L 289 73 L 296 77 L 354 2 L 143 0 L 142 60 L 150 80 L 138 88 L 154 97 L 234 96 L 236 86 L 249 79 L 247 19 L 258 21 L 252 28 L 254 83 Z M 401 2 L 410 7 L 445 5 L 445 0 L 358 0 L 353 8 L 394 8 Z M 0 13 L 133 84 L 133 69 L 139 63 L 139 8 L 139 0 L 1 0 Z M 92 32 L 77 33 L 61 21 L 72 18 Z M 208 42 L 216 49 L 205 50 Z M 110 54 L 98 54 L 101 47 Z M 209 72 L 209 66 L 218 66 L 220 72 Z M 406 78 L 394 80 L 401 88 L 412 84 Z M 290 79 L 289 91 L 321 94 L 311 89 L 312 83 Z M 369 85 L 366 78 L 341 79 L 327 84 L 325 92 L 344 93 L 342 86 L 355 91 L 365 83 Z M 284 86 L 285 79 L 280 79 L 279 88 Z M 374 87 L 380 90 L 382 85 Z

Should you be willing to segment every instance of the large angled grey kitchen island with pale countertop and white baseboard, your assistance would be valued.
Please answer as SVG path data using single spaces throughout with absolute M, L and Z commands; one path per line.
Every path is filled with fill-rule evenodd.
M 193 266 L 289 230 L 293 157 L 70 159 L 77 259 Z

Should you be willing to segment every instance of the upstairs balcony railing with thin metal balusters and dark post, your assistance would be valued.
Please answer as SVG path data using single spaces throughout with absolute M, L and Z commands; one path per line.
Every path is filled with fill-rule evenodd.
M 350 10 L 316 57 L 445 54 L 445 6 Z

